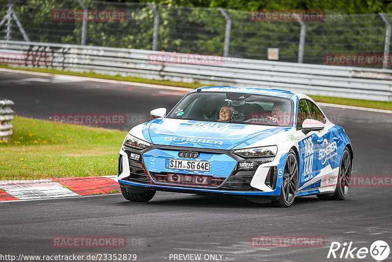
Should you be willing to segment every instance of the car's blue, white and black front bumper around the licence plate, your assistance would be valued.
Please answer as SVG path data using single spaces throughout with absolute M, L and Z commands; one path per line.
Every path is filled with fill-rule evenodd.
M 219 159 L 224 161 L 219 162 L 215 160 L 214 162 L 214 160 L 211 160 L 211 166 L 215 165 L 219 166 L 219 168 L 212 168 L 211 172 L 206 175 L 200 175 L 198 172 L 166 169 L 163 159 L 174 157 L 180 150 L 201 152 L 200 156 L 204 158 L 196 160 L 205 160 L 205 157 L 215 159 L 214 157 L 220 155 Z M 252 168 L 244 169 L 240 166 L 240 163 L 249 162 L 253 163 Z M 119 153 L 118 179 L 120 186 L 135 192 L 156 190 L 192 194 L 234 195 L 238 197 L 270 196 L 275 198 L 280 195 L 280 187 L 277 186 L 277 183 L 281 175 L 276 163 L 279 163 L 279 160 L 274 160 L 273 157 L 244 159 L 228 150 L 205 150 L 154 145 L 147 150 L 137 151 L 123 146 Z M 224 167 L 225 165 L 226 167 Z M 160 174 L 164 179 L 157 181 L 156 174 Z M 207 177 L 209 175 L 208 177 L 211 177 L 215 182 L 218 179 L 220 182 L 208 185 L 196 184 L 192 183 L 192 181 L 188 184 L 176 184 L 170 181 L 173 174 L 180 177 L 183 176 L 184 178 Z

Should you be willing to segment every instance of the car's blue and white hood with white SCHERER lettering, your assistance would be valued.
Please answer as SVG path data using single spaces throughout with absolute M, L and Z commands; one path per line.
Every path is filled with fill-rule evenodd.
M 154 119 L 148 124 L 145 128 L 153 144 L 224 150 L 232 149 L 250 138 L 261 140 L 289 129 L 171 118 Z

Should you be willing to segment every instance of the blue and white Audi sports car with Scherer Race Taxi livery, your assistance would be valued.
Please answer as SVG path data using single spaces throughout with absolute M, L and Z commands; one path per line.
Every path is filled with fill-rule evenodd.
M 125 199 L 156 191 L 219 194 L 289 207 L 297 196 L 343 200 L 353 151 L 308 96 L 277 89 L 200 87 L 168 114 L 132 128 L 119 153 Z

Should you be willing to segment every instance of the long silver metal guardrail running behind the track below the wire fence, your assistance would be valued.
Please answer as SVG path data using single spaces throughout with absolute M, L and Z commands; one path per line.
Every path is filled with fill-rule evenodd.
M 0 40 L 1 63 L 76 72 L 286 89 L 308 95 L 392 101 L 392 70 L 214 57 L 219 63 L 150 60 L 184 55 L 136 49 Z M 11 56 L 13 58 L 11 59 Z

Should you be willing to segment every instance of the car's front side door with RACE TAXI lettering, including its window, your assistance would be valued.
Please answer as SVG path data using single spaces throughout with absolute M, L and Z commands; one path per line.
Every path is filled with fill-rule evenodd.
M 302 123 L 305 119 L 313 119 L 311 110 L 306 99 L 301 99 L 298 102 L 296 138 L 299 146 L 299 184 L 301 188 L 305 183 L 311 181 L 319 173 L 317 165 L 317 148 L 318 139 L 315 131 L 307 134 L 302 132 Z M 309 184 L 309 183 L 307 183 Z M 310 183 L 311 184 L 311 183 Z

